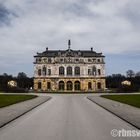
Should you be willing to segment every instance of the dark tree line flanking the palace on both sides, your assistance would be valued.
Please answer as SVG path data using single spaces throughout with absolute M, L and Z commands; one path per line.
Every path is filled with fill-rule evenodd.
M 11 88 L 8 82 L 14 80 L 17 87 Z M 131 85 L 122 85 L 122 81 L 128 80 Z M 24 72 L 19 72 L 17 76 L 4 73 L 0 75 L 0 92 L 28 92 L 33 88 L 33 77 L 28 77 Z M 106 76 L 106 88 L 111 92 L 138 92 L 140 91 L 140 72 L 133 70 L 126 71 L 126 75 L 112 74 Z

